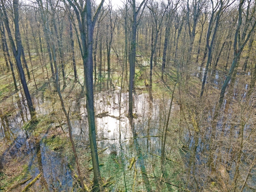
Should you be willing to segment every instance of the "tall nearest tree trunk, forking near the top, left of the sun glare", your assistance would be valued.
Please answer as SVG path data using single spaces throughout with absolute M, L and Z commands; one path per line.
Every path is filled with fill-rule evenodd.
M 84 2 L 77 2 L 76 0 L 68 0 L 73 7 L 76 19 L 79 25 L 79 31 L 81 35 L 81 55 L 84 64 L 84 88 L 86 95 L 86 108 L 88 113 L 89 123 L 89 139 L 90 149 L 93 162 L 93 187 L 94 190 L 99 190 L 99 182 L 101 176 L 99 172 L 99 159 L 96 143 L 96 126 L 95 126 L 95 114 L 94 114 L 94 102 L 93 102 L 93 30 L 98 18 L 100 9 L 104 3 L 104 0 L 98 6 L 95 14 L 92 16 L 91 1 L 86 0 Z M 86 19 L 85 19 L 86 18 Z

